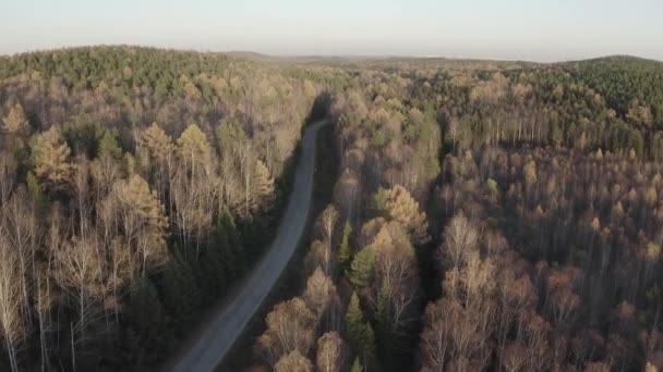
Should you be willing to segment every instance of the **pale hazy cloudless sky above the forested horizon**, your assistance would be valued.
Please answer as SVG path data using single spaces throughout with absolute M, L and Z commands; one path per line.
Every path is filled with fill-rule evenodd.
M 98 44 L 270 54 L 663 60 L 663 0 L 0 0 L 0 53 Z

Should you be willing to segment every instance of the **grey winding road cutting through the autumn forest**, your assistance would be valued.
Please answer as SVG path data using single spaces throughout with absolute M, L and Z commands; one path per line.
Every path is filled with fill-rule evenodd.
M 286 269 L 309 220 L 315 170 L 315 139 L 318 129 L 327 124 L 329 123 L 326 121 L 316 122 L 304 133 L 288 206 L 268 251 L 244 281 L 244 287 L 237 297 L 209 322 L 201 337 L 177 362 L 173 372 L 213 371 L 226 357 Z

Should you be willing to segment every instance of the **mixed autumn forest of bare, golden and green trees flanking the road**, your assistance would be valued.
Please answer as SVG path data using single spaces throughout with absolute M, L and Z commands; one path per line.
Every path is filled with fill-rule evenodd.
M 0 57 L 0 369 L 158 370 L 338 178 L 249 371 L 663 369 L 663 63 Z M 303 269 L 302 269 L 303 268 Z

